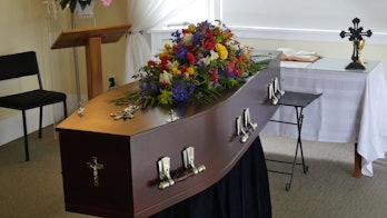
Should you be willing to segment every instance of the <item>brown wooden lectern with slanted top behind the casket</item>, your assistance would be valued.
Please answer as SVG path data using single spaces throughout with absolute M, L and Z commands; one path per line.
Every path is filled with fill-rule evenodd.
M 51 49 L 86 47 L 87 81 L 89 99 L 103 92 L 101 44 L 117 42 L 129 31 L 131 24 L 63 30 Z

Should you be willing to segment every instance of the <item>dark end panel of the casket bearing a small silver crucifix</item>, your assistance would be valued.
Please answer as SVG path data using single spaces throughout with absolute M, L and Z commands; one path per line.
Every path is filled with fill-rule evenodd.
M 131 216 L 129 137 L 61 130 L 60 153 L 66 210 L 98 216 Z M 88 166 L 97 157 L 98 186 Z

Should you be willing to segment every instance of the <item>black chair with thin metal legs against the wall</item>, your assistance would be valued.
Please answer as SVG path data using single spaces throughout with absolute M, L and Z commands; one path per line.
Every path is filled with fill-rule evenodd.
M 64 118 L 67 117 L 66 93 L 43 90 L 37 54 L 34 51 L 0 57 L 0 81 L 22 77 L 37 76 L 39 89 L 0 97 L 0 107 L 21 110 L 23 119 L 26 161 L 30 160 L 27 136 L 26 110 L 40 108 L 39 138 L 41 138 L 43 106 L 63 102 Z

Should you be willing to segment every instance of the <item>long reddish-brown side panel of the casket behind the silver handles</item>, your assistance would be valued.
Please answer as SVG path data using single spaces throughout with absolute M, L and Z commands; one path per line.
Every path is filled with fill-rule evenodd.
M 194 196 L 220 180 L 240 159 L 278 106 L 266 101 L 267 85 L 279 77 L 279 62 L 256 75 L 226 101 L 195 116 L 131 137 L 133 209 L 148 217 Z M 249 108 L 256 130 L 247 142 L 236 136 L 236 117 Z M 171 176 L 183 171 L 182 150 L 195 148 L 196 166 L 206 170 L 163 190 L 158 188 L 157 161 L 170 157 Z

